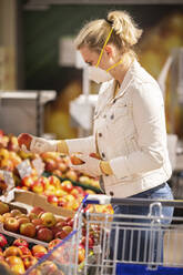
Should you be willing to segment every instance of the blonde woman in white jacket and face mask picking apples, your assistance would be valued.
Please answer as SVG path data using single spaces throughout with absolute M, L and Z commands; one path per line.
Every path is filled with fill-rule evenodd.
M 37 153 L 81 153 L 84 164 L 74 165 L 74 169 L 101 176 L 108 195 L 171 200 L 172 193 L 166 184 L 172 171 L 166 147 L 164 102 L 156 81 L 136 60 L 133 45 L 141 34 L 132 18 L 123 11 L 109 12 L 106 20 L 94 20 L 83 27 L 75 39 L 75 47 L 90 65 L 91 79 L 103 82 L 94 112 L 93 135 L 65 141 L 33 138 L 30 149 Z M 91 157 L 91 153 L 98 153 L 101 160 Z M 144 206 L 113 207 L 115 214 L 149 213 Z M 163 207 L 163 214 L 171 220 L 173 208 Z M 118 257 L 128 259 L 130 241 L 122 255 L 122 231 L 119 236 Z M 144 237 L 141 236 L 142 243 Z M 114 238 L 113 230 L 112 256 Z M 135 247 L 133 251 L 135 254 Z M 140 259 L 148 256 L 141 254 Z M 131 257 L 134 258 L 133 255 Z

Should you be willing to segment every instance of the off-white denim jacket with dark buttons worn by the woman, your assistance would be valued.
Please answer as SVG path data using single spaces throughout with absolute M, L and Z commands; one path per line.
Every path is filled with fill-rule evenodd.
M 134 61 L 115 98 L 115 81 L 101 85 L 93 135 L 75 140 L 77 151 L 96 151 L 113 175 L 103 175 L 105 193 L 128 197 L 167 181 L 172 169 L 166 144 L 164 102 L 156 81 Z M 72 144 L 70 151 L 74 152 Z

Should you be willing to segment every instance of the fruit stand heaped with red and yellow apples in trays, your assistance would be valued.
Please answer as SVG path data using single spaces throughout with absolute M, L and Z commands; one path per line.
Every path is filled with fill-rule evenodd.
M 99 179 L 71 170 L 69 162 L 70 156 L 60 153 L 24 153 L 17 136 L 0 131 L 0 263 L 13 274 L 24 274 L 63 242 L 73 231 L 75 213 L 85 195 L 101 193 Z M 95 210 L 89 205 L 87 210 L 113 213 L 111 205 Z M 98 242 L 96 228 L 90 234 L 92 251 Z M 81 266 L 84 238 L 83 225 L 78 258 Z M 49 261 L 45 266 L 55 268 Z

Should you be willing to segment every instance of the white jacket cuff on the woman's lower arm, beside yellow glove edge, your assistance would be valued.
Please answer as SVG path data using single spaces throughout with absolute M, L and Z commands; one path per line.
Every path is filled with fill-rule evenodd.
M 121 180 L 122 177 L 130 176 L 131 172 L 126 165 L 126 157 L 119 156 L 110 161 L 110 166 L 112 169 L 113 174 L 116 179 Z

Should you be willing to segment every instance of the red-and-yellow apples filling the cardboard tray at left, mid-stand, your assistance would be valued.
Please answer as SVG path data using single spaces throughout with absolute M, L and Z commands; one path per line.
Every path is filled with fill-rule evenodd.
M 7 208 L 4 211 L 0 212 L 3 213 L 0 214 L 3 228 L 27 237 L 49 243 L 53 238 L 63 240 L 72 232 L 72 217 L 65 220 L 55 217 L 52 213 L 45 212 L 41 207 L 34 206 L 29 214 L 23 214 L 17 208 L 11 211 Z

